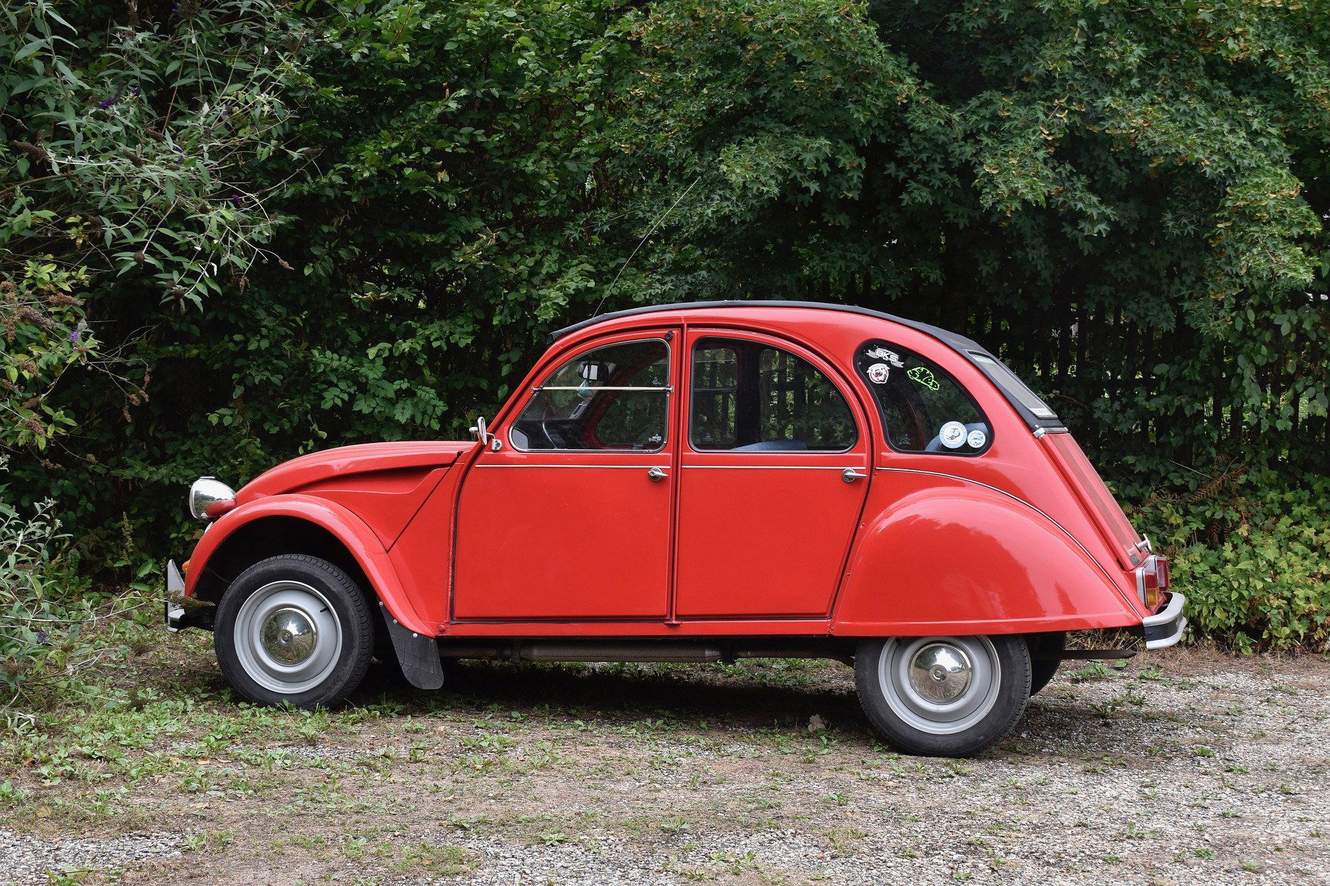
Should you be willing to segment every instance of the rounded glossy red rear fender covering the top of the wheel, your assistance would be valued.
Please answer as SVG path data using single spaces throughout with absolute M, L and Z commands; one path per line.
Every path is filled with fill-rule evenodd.
M 831 630 L 1032 634 L 1140 622 L 1123 587 L 1041 511 L 999 490 L 960 481 L 939 487 L 934 478 L 861 529 Z

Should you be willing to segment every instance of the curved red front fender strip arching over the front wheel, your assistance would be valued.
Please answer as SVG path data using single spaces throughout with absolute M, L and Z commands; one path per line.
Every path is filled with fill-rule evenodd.
M 189 575 L 185 580 L 185 595 L 193 596 L 200 576 L 207 569 L 209 559 L 222 547 L 237 530 L 267 517 L 294 517 L 310 522 L 331 533 L 350 551 L 364 571 L 374 591 L 379 595 L 388 614 L 404 627 L 418 634 L 435 636 L 438 631 L 416 615 L 406 599 L 402 580 L 388 559 L 383 543 L 364 521 L 348 509 L 323 498 L 309 495 L 269 495 L 222 515 L 207 527 L 194 546 L 189 561 Z

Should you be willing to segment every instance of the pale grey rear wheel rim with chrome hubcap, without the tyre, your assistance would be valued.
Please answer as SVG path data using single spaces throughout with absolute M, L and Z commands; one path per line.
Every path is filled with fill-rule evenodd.
M 910 728 L 955 735 L 998 703 L 1001 663 L 986 636 L 892 638 L 878 659 L 878 684 Z

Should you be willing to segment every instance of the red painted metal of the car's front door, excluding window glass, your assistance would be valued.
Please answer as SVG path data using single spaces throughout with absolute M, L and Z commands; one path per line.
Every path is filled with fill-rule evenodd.
M 677 391 L 677 331 L 656 327 L 642 336 L 597 339 L 592 347 L 666 333 Z M 531 384 L 519 391 L 512 400 L 525 404 Z M 677 401 L 669 395 L 669 428 Z M 495 428 L 503 449 L 481 453 L 462 485 L 452 618 L 665 620 L 676 434 L 654 453 L 521 452 L 509 425 Z M 665 477 L 652 480 L 653 468 Z

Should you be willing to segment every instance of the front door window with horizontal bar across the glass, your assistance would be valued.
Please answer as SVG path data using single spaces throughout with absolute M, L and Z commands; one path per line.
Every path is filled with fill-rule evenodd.
M 517 449 L 626 449 L 665 446 L 669 422 L 669 344 L 621 341 L 585 351 L 532 393 L 513 422 Z

